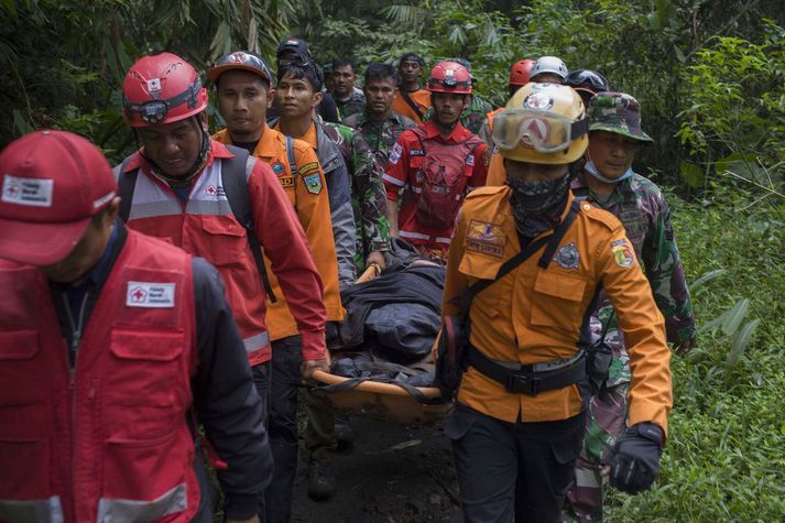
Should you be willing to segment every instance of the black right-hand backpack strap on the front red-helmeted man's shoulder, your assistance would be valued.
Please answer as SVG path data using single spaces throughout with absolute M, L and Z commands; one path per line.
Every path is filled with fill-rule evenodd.
M 262 280 L 262 285 L 264 285 L 264 292 L 270 298 L 270 302 L 275 303 L 277 298 L 275 297 L 275 293 L 273 293 L 273 286 L 270 284 L 270 276 L 264 266 L 262 246 L 259 243 L 259 238 L 257 238 L 253 211 L 251 209 L 251 197 L 248 193 L 247 174 L 250 173 L 255 165 L 257 159 L 251 156 L 248 151 L 243 149 L 232 145 L 227 145 L 227 149 L 235 156 L 223 159 L 221 165 L 223 192 L 229 200 L 229 207 L 231 207 L 235 218 L 237 218 L 240 225 L 246 229 L 248 244 L 251 248 L 251 253 L 253 253 L 253 260 L 257 262 L 257 270 Z

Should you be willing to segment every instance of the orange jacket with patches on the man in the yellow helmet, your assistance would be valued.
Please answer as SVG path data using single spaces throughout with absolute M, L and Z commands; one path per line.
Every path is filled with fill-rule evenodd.
M 502 263 L 520 252 L 510 192 L 506 186 L 481 187 L 467 197 L 450 243 L 444 315 L 457 315 L 450 299 L 478 279 L 493 279 Z M 672 384 L 665 324 L 621 222 L 582 203 L 559 246 L 547 270 L 537 265 L 541 250 L 475 297 L 471 344 L 491 359 L 522 364 L 569 358 L 601 284 L 630 353 L 630 424 L 653 422 L 666 433 Z M 567 260 L 577 252 L 577 266 L 560 265 L 559 252 L 571 253 Z M 473 368 L 464 374 L 458 400 L 510 423 L 519 417 L 566 420 L 581 410 L 575 384 L 536 396 L 514 394 Z

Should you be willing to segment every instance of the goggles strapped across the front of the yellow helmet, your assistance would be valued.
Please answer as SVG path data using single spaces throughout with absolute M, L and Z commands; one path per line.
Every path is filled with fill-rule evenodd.
M 538 110 L 505 109 L 493 118 L 491 137 L 501 151 L 512 151 L 522 144 L 541 153 L 555 153 L 567 149 L 588 130 L 586 117 L 573 121 Z

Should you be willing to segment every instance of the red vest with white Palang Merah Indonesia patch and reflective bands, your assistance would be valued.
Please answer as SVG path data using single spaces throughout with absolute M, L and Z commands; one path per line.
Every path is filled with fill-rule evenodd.
M 0 260 L 0 521 L 189 521 L 190 257 L 129 231 L 75 370 L 46 277 Z

